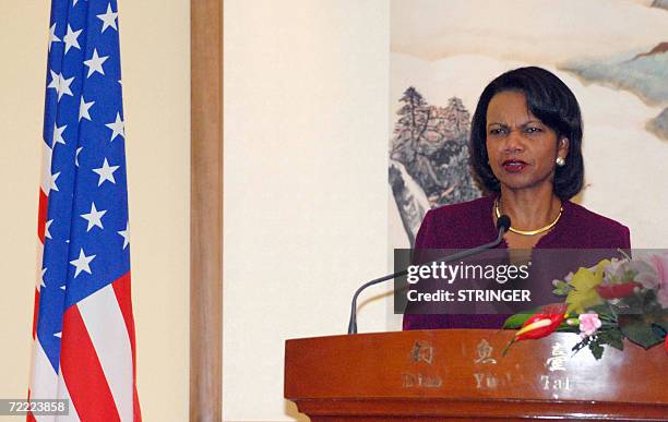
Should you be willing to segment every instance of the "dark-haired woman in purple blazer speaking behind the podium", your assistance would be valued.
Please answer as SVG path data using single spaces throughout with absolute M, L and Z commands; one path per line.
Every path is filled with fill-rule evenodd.
M 570 200 L 583 186 L 582 118 L 569 87 L 551 72 L 521 68 L 480 95 L 470 134 L 473 169 L 488 196 L 431 209 L 416 249 L 466 249 L 512 227 L 499 248 L 630 249 L 629 229 Z M 551 281 L 551 280 L 550 280 Z M 404 329 L 498 328 L 508 315 L 404 315 Z

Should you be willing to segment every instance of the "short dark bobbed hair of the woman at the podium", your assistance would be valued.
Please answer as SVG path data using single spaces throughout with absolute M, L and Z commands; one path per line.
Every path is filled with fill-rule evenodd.
M 584 182 L 580 106 L 573 92 L 557 75 L 537 67 L 505 72 L 482 91 L 470 128 L 470 160 L 478 182 L 487 191 L 500 191 L 487 156 L 487 107 L 494 95 L 509 91 L 524 94 L 530 112 L 557 132 L 557 140 L 569 140 L 565 166 L 557 167 L 553 184 L 559 198 L 570 200 Z

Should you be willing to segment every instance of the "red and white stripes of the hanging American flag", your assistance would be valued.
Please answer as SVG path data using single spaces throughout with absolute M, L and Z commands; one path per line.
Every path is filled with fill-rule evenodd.
M 70 306 L 61 334 L 60 371 L 56 373 L 36 325 L 41 286 L 41 252 L 50 191 L 51 148 L 45 143 L 39 192 L 38 276 L 33 322 L 29 398 L 69 399 L 68 415 L 33 415 L 28 421 L 141 421 L 135 378 L 134 323 L 130 273 Z

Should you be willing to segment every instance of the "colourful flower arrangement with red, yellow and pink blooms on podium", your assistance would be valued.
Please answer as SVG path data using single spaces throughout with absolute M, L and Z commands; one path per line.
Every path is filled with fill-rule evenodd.
M 623 253 L 623 252 L 622 252 Z M 520 313 L 503 328 L 517 329 L 508 345 L 554 331 L 577 333 L 573 351 L 588 347 L 600 359 L 605 347 L 623 350 L 623 339 L 645 349 L 665 342 L 668 352 L 668 253 L 604 260 L 553 281 L 562 303 Z

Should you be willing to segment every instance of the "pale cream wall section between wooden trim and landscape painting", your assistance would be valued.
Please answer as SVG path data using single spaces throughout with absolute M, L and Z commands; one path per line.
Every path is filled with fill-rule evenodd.
M 291 420 L 285 339 L 345 333 L 353 291 L 387 268 L 387 8 L 225 1 L 226 420 Z M 386 306 L 360 331 L 385 330 Z

